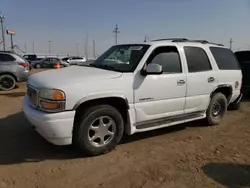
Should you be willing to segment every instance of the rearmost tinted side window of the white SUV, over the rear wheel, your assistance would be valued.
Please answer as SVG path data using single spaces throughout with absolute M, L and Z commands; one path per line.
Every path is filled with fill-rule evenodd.
M 220 70 L 239 70 L 239 63 L 233 52 L 226 48 L 210 47 Z

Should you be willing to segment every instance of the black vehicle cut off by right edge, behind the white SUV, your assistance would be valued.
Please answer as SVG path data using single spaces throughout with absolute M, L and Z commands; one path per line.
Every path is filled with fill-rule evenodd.
M 244 93 L 250 93 L 250 51 L 237 51 L 235 52 L 235 56 L 237 57 L 242 74 L 243 74 L 243 83 L 242 83 L 242 91 Z

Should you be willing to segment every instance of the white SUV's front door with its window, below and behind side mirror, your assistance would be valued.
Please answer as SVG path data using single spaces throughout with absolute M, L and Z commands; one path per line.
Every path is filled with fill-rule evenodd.
M 182 62 L 176 46 L 153 50 L 147 64 L 161 65 L 163 74 L 135 76 L 137 123 L 184 114 L 187 88 Z

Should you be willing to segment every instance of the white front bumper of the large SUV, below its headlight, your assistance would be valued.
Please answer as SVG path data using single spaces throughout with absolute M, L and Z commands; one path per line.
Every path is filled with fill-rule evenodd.
M 75 111 L 45 113 L 29 105 L 27 96 L 23 100 L 23 112 L 35 130 L 55 145 L 72 144 Z

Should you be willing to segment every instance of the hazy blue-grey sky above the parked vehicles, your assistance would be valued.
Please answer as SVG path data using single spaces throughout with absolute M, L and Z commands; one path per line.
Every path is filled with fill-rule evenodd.
M 0 0 L 5 27 L 13 29 L 14 40 L 22 49 L 48 53 L 52 40 L 54 54 L 84 54 L 86 32 L 88 52 L 92 40 L 102 53 L 115 39 L 118 23 L 119 43 L 150 39 L 187 37 L 206 39 L 233 49 L 249 49 L 250 0 Z M 6 36 L 9 44 L 9 36 Z

